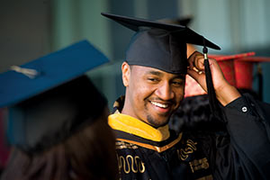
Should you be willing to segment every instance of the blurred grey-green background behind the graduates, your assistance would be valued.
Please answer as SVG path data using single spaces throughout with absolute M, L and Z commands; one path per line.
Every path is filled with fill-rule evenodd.
M 124 94 L 121 62 L 133 31 L 101 12 L 151 20 L 192 16 L 190 28 L 221 47 L 210 53 L 255 51 L 269 57 L 269 7 L 268 0 L 0 0 L 0 72 L 78 40 L 90 40 L 111 59 L 88 74 L 112 107 Z M 264 101 L 270 103 L 270 63 L 262 67 Z

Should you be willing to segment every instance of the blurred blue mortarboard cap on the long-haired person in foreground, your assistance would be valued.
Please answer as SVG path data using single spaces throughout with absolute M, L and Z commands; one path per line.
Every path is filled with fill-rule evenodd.
M 108 62 L 87 40 L 0 75 L 9 142 L 39 152 L 99 117 L 107 100 L 85 72 Z

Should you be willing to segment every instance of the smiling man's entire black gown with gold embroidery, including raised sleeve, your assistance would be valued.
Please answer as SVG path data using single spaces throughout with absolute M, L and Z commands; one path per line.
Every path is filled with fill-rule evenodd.
M 121 179 L 270 179 L 270 106 L 247 95 L 222 112 L 225 130 L 172 132 L 161 142 L 115 130 Z

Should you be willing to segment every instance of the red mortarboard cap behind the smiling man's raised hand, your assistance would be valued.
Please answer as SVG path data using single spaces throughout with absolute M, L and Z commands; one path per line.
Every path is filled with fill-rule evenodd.
M 215 58 L 230 85 L 238 89 L 252 89 L 253 65 L 259 62 L 269 62 L 270 58 L 255 57 L 255 52 L 247 52 L 236 55 L 208 55 Z M 202 87 L 193 80 L 186 77 L 184 96 L 206 94 Z

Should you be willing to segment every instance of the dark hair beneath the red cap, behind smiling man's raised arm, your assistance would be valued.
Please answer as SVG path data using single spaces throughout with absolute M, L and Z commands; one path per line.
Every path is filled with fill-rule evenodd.
M 238 91 L 258 98 L 253 90 L 238 89 Z M 207 94 L 185 97 L 180 107 L 171 116 L 169 126 L 177 133 L 182 130 L 225 130 L 222 118 L 218 120 L 212 116 Z

